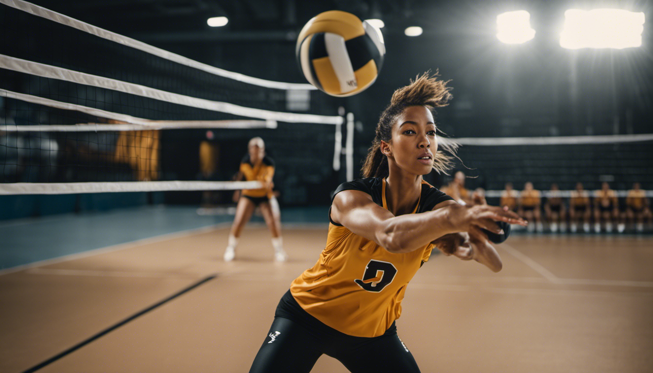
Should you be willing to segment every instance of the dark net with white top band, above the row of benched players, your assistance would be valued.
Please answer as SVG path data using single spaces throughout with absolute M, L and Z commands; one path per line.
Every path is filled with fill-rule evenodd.
M 549 197 L 570 197 L 577 183 L 590 195 L 608 182 L 618 197 L 634 183 L 653 197 L 653 134 L 570 137 L 456 138 L 462 163 L 456 169 L 471 178 L 468 189 L 482 187 L 488 202 L 496 203 L 505 184 L 515 190 L 532 182 Z

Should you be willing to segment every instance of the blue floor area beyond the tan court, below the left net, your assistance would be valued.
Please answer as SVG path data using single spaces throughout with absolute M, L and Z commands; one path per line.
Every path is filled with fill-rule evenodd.
M 282 223 L 328 223 L 328 206 L 285 208 Z M 229 225 L 232 215 L 197 206 L 147 206 L 0 221 L 0 270 L 189 229 Z M 251 221 L 263 221 L 253 216 Z

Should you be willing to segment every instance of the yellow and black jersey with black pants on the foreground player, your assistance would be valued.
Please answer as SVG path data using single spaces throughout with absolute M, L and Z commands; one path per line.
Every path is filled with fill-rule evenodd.
M 368 193 L 387 208 L 383 178 L 346 182 L 334 196 L 345 190 Z M 451 199 L 422 182 L 413 213 Z M 250 373 L 272 371 L 266 369 L 276 364 L 285 364 L 284 372 L 309 372 L 323 353 L 351 372 L 419 372 L 394 321 L 401 315 L 408 282 L 428 261 L 432 248 L 427 244 L 409 253 L 390 253 L 330 221 L 325 249 L 281 298 Z

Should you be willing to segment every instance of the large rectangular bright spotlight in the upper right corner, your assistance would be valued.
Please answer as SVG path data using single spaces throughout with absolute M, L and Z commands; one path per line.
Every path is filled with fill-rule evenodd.
M 579 48 L 630 48 L 642 45 L 644 13 L 622 9 L 569 9 L 560 34 L 560 46 Z

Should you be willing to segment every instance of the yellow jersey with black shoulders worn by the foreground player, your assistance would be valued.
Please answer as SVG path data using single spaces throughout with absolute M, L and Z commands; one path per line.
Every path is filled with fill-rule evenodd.
M 364 191 L 387 209 L 385 179 L 365 178 L 341 184 L 336 192 Z M 422 181 L 413 214 L 430 211 L 452 198 Z M 355 235 L 329 217 L 327 246 L 317 263 L 291 284 L 291 293 L 308 314 L 351 336 L 374 337 L 402 313 L 408 282 L 428 261 L 428 244 L 409 253 L 390 253 L 376 242 Z

